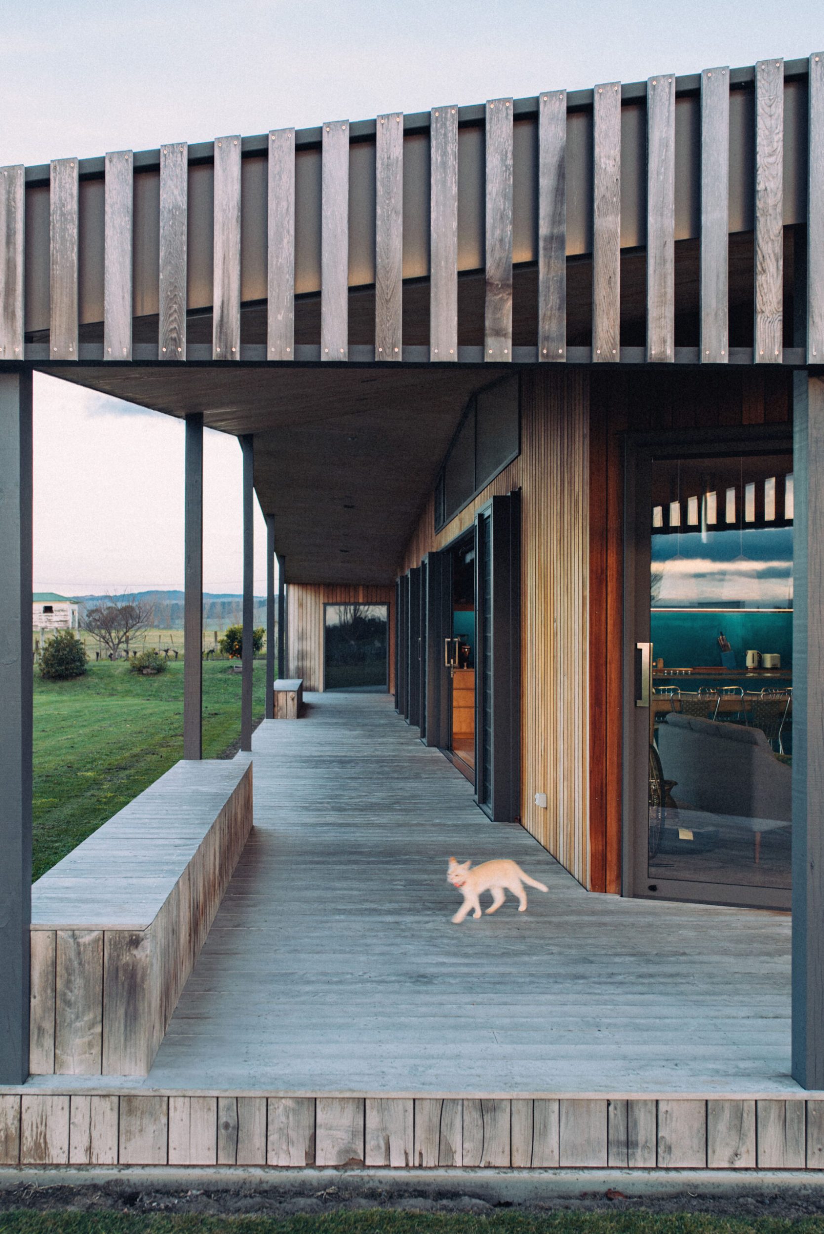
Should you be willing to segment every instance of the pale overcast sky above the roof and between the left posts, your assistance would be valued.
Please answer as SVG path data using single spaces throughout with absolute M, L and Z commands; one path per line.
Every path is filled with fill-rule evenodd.
M 822 0 L 0 0 L 0 165 L 363 120 L 824 49 Z M 207 433 L 205 584 L 241 580 L 241 452 Z M 183 427 L 39 378 L 38 589 L 180 586 Z M 263 521 L 255 587 L 265 582 Z

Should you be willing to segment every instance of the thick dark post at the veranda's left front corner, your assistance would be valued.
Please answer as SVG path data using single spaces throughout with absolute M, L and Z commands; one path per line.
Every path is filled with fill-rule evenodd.
M 28 1076 L 32 375 L 0 374 L 0 1083 Z

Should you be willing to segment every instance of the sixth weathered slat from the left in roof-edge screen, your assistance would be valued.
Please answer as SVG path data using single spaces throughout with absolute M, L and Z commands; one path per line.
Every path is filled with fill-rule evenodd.
M 295 130 L 269 133 L 266 354 L 295 358 Z

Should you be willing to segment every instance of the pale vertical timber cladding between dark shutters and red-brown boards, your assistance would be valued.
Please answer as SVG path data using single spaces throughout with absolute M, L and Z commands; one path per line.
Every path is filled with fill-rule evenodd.
M 522 378 L 521 454 L 440 532 L 431 499 L 402 573 L 472 526 L 490 497 L 522 490 L 522 823 L 583 884 L 590 876 L 588 376 Z M 545 792 L 548 807 L 534 803 Z

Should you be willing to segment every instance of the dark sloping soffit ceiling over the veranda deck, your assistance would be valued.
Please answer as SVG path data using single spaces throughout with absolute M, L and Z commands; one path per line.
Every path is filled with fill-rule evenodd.
M 275 517 L 289 581 L 354 584 L 393 580 L 468 397 L 500 375 L 456 365 L 48 371 L 171 416 L 202 412 L 210 428 L 254 434 L 255 490 Z

